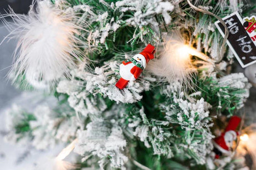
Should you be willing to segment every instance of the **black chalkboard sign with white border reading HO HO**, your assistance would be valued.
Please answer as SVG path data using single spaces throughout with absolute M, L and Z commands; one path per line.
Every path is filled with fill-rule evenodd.
M 237 12 L 223 18 L 229 29 L 227 44 L 233 51 L 240 65 L 245 68 L 256 63 L 256 47 L 253 40 L 243 26 L 243 20 Z M 220 34 L 224 37 L 225 28 L 217 21 L 215 22 Z

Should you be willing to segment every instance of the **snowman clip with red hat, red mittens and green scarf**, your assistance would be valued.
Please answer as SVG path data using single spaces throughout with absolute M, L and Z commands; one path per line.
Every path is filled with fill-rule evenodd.
M 124 89 L 129 81 L 136 80 L 142 71 L 146 68 L 149 60 L 154 59 L 155 47 L 148 44 L 147 47 L 140 53 L 134 55 L 129 60 L 122 61 L 120 65 L 121 78 L 116 83 L 116 87 Z

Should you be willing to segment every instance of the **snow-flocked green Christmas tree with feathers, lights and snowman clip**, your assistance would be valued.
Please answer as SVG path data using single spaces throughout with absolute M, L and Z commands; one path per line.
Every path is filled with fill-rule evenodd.
M 6 139 L 41 150 L 71 143 L 55 169 L 245 167 L 235 151 L 251 85 L 230 73 L 227 27 L 223 38 L 214 22 L 252 9 L 240 0 L 38 0 L 27 15 L 10 11 L 18 45 L 9 77 L 60 102 L 13 107 Z M 76 167 L 62 162 L 72 150 Z

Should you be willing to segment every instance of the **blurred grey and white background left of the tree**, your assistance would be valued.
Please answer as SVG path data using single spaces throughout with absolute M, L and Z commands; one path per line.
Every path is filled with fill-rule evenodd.
M 8 13 L 9 7 L 13 9 L 15 13 L 26 14 L 32 0 L 0 0 L 0 13 Z M 5 18 L 8 22 L 11 22 L 10 18 Z M 12 107 L 13 103 L 22 105 L 29 110 L 29 107 L 35 107 L 38 102 L 46 102 L 44 99 L 35 101 L 38 94 L 37 92 L 21 92 L 16 89 L 7 80 L 6 75 L 11 68 L 13 61 L 13 52 L 16 48 L 17 40 L 6 39 L 9 34 L 8 30 L 4 27 L 2 20 L 0 21 L 0 169 L 6 170 L 29 170 L 35 169 L 36 162 L 41 159 L 48 159 L 56 156 L 61 151 L 63 146 L 57 146 L 54 150 L 48 151 L 36 151 L 29 145 L 17 146 L 12 143 L 7 143 L 3 140 L 3 136 L 6 134 L 6 121 L 4 119 L 4 113 L 9 107 Z M 41 94 L 42 96 L 42 94 Z M 54 99 L 52 99 L 54 100 Z M 41 161 L 41 162 L 47 162 Z

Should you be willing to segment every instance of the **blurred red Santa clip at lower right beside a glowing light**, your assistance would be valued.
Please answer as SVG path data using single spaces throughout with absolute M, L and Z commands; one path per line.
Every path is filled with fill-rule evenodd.
M 239 132 L 235 131 L 241 119 L 238 116 L 232 116 L 228 122 L 225 131 L 219 137 L 213 140 L 215 158 L 220 156 L 229 156 L 232 153 L 233 142 L 237 140 Z

